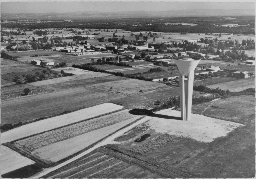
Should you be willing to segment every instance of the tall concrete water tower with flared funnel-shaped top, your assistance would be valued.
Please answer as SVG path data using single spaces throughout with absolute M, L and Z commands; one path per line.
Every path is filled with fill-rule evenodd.
M 183 121 L 190 120 L 194 71 L 201 58 L 176 57 L 173 58 L 179 69 L 180 78 L 180 112 Z

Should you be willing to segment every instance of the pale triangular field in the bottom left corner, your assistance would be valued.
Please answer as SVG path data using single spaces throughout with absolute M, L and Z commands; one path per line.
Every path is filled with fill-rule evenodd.
M 1 175 L 34 163 L 33 160 L 1 145 Z

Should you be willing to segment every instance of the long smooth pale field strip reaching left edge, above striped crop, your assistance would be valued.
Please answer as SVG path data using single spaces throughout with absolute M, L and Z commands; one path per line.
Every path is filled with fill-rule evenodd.
M 98 111 L 98 108 L 101 108 L 102 110 Z M 115 105 L 112 103 L 104 103 L 93 107 L 81 109 L 75 112 L 26 124 L 18 128 L 9 130 L 7 132 L 3 132 L 1 135 L 1 143 L 11 142 L 20 138 L 38 134 L 40 132 L 45 132 L 55 128 L 63 127 L 65 125 L 90 119 L 99 115 L 120 110 L 122 108 L 123 106 Z M 95 111 L 97 111 L 97 113 L 95 113 Z M 86 114 L 86 116 L 84 116 L 84 114 Z M 75 116 L 75 118 L 73 116 Z M 49 123 L 51 123 L 50 126 Z

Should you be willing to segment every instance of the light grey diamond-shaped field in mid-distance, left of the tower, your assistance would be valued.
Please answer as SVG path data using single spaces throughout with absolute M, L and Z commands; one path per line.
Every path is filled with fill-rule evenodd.
M 121 81 L 106 82 L 100 84 L 93 84 L 91 87 L 103 90 L 111 90 L 111 92 L 132 95 L 140 93 L 139 91 L 148 91 L 160 87 L 166 86 L 161 83 L 154 83 L 149 81 L 137 80 L 137 79 L 126 79 Z M 112 89 L 111 89 L 112 88 Z

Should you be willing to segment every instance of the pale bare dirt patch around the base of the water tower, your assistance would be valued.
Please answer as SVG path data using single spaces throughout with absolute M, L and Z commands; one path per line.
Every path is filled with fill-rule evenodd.
M 212 142 L 218 137 L 224 137 L 243 124 L 214 119 L 202 115 L 191 114 L 190 121 L 182 121 L 180 111 L 170 109 L 157 112 L 146 125 L 159 133 L 168 133 L 178 137 L 189 137 L 201 142 Z

